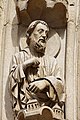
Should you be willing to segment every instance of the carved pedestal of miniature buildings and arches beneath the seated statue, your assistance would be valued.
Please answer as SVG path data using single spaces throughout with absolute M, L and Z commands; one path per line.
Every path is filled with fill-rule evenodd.
M 56 104 L 52 109 L 48 106 L 40 107 L 36 100 L 28 103 L 27 109 L 21 110 L 18 120 L 64 120 L 63 110 Z

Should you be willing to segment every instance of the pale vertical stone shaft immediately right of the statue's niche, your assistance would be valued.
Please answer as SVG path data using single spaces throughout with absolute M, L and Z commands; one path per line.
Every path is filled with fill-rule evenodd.
M 77 120 L 76 1 L 69 1 L 66 46 L 66 119 Z

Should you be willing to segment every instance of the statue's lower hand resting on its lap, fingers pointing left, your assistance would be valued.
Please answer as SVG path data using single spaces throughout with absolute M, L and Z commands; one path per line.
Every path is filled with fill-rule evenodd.
M 29 90 L 31 92 L 37 93 L 38 91 L 44 90 L 46 87 L 49 86 L 49 82 L 46 80 L 34 81 L 29 84 Z

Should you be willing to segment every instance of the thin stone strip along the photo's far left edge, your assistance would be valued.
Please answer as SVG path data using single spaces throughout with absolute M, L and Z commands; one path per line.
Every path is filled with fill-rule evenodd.
M 3 0 L 0 0 L 0 119 L 2 118 L 2 76 L 3 76 L 3 21 L 4 21 L 4 8 L 3 8 Z

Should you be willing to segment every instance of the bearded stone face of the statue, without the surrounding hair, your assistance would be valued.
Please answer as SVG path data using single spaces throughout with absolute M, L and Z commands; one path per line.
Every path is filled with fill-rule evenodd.
M 37 24 L 30 36 L 33 48 L 38 53 L 44 53 L 48 37 L 49 28 L 44 24 Z

